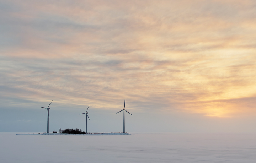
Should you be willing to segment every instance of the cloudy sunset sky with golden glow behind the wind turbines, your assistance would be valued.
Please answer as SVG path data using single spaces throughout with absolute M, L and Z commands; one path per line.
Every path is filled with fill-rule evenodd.
M 0 132 L 256 132 L 256 1 L 0 0 Z

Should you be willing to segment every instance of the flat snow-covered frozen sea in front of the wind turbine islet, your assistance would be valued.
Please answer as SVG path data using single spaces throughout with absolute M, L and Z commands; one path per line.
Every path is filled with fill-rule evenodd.
M 255 163 L 256 134 L 16 135 L 1 163 Z

